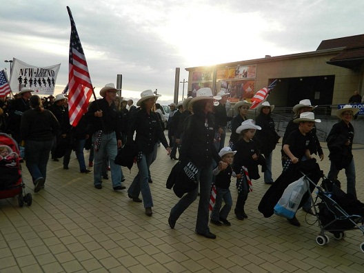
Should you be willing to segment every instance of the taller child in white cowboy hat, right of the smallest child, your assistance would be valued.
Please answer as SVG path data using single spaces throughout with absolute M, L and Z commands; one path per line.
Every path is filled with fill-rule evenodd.
M 258 165 L 265 165 L 265 159 L 259 155 L 257 145 L 252 140 L 256 130 L 261 130 L 261 127 L 255 125 L 252 119 L 243 121 L 236 128 L 236 133 L 239 134 L 239 140 L 234 145 L 236 154 L 234 155 L 233 170 L 236 176 L 241 175 L 241 179 L 236 180 L 238 199 L 236 200 L 234 212 L 236 218 L 239 220 L 247 218 L 244 206 L 247 200 L 247 194 L 251 190 L 250 179 L 259 179 Z

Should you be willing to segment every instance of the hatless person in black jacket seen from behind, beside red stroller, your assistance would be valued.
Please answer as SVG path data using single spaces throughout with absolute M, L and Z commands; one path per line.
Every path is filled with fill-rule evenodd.
M 30 97 L 30 108 L 21 117 L 20 134 L 26 143 L 26 166 L 32 176 L 34 192 L 39 192 L 45 183 L 47 163 L 59 122 L 52 112 L 43 109 L 41 98 L 37 95 Z

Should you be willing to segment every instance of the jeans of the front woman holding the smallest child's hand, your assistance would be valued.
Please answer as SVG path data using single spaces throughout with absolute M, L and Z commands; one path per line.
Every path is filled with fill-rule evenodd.
M 203 169 L 200 169 L 196 174 L 197 181 L 200 182 L 200 201 L 197 209 L 196 232 L 206 234 L 210 232 L 208 227 L 209 221 L 209 204 L 211 196 L 211 181 L 212 181 L 212 163 Z M 170 212 L 170 219 L 177 221 L 179 216 L 196 200 L 199 188 L 196 188 L 185 194 Z

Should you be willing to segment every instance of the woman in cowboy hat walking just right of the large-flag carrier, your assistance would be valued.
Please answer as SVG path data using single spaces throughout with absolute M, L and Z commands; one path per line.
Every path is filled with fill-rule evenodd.
M 128 132 L 128 141 L 133 141 L 134 132 L 136 132 L 134 144 L 138 151 L 136 163 L 139 170 L 128 189 L 128 196 L 134 202 L 143 201 L 145 214 L 148 216 L 152 216 L 153 213 L 152 193 L 148 183 L 149 167 L 153 160 L 157 139 L 161 141 L 165 150 L 170 154 L 170 147 L 165 139 L 158 114 L 152 111 L 156 98 L 157 96 L 152 90 L 141 92 L 141 99 L 136 103 L 137 106 L 140 106 L 140 110 L 132 116 Z M 143 200 L 139 199 L 140 193 Z

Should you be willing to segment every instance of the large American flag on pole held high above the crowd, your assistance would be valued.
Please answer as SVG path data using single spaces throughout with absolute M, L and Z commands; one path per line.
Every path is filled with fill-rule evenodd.
M 68 115 L 70 117 L 70 124 L 75 127 L 83 114 L 87 112 L 93 88 L 72 12 L 68 7 L 67 10 L 71 21 Z

